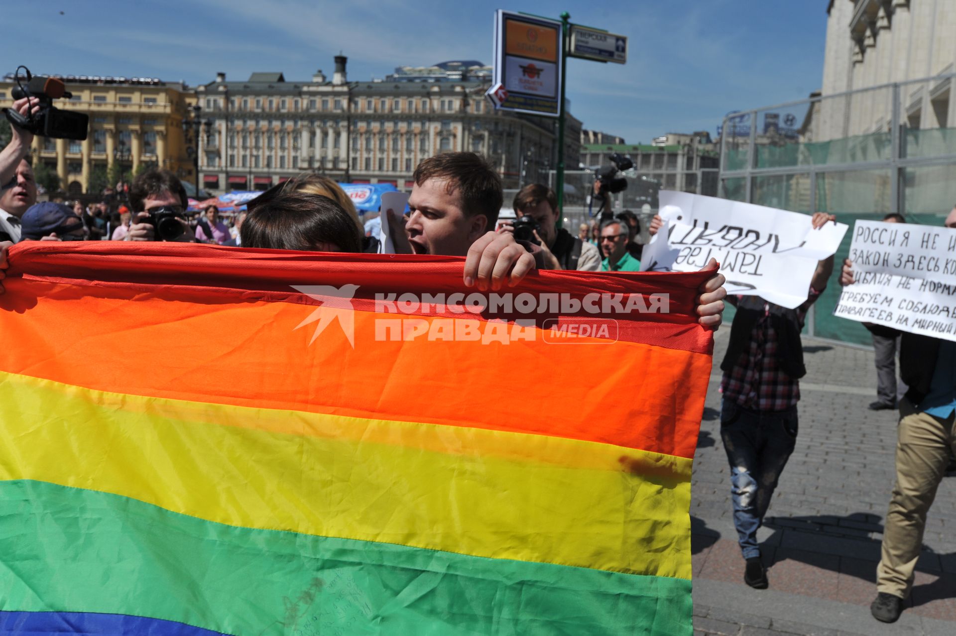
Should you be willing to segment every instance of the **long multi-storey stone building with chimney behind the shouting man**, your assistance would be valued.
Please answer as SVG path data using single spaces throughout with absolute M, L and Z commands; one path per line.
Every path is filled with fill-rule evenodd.
M 200 145 L 203 185 L 213 193 L 265 189 L 304 171 L 338 181 L 412 186 L 423 159 L 471 150 L 486 155 L 505 187 L 547 182 L 556 160 L 556 121 L 496 112 L 478 62 L 400 67 L 389 81 L 348 81 L 337 55 L 331 80 L 282 73 L 225 74 L 196 89 L 213 121 Z M 575 166 L 580 121 L 569 115 L 565 164 Z

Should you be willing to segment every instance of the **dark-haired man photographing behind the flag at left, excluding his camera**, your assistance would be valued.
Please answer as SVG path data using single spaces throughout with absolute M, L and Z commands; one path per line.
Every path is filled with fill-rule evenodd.
M 151 213 L 161 209 L 177 214 L 176 221 L 183 225 L 178 242 L 191 242 L 196 235 L 185 220 L 185 208 L 189 199 L 179 177 L 169 170 L 149 168 L 133 180 L 129 188 L 129 204 L 133 220 L 124 241 L 155 241 L 156 229 L 148 219 Z

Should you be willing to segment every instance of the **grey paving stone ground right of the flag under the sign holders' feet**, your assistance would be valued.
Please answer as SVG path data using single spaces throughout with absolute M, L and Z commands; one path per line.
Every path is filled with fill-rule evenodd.
M 873 352 L 804 339 L 799 433 L 758 537 L 768 590 L 743 581 L 720 438 L 720 362 L 729 329 L 715 338 L 714 371 L 694 458 L 690 506 L 694 634 L 956 635 L 956 473 L 926 520 L 912 598 L 900 621 L 870 615 L 883 517 L 894 477 L 896 411 L 876 399 Z

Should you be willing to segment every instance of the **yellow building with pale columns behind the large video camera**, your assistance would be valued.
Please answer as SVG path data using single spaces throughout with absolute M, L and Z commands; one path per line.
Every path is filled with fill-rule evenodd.
M 35 137 L 33 161 L 47 164 L 70 194 L 88 193 L 94 170 L 119 163 L 128 179 L 141 164 L 157 164 L 183 177 L 191 174 L 182 121 L 192 92 L 178 82 L 154 78 L 62 77 L 72 99 L 54 106 L 90 117 L 83 142 Z M 13 77 L 0 81 L 0 107 L 11 106 Z M 115 184 L 111 184 L 113 186 Z

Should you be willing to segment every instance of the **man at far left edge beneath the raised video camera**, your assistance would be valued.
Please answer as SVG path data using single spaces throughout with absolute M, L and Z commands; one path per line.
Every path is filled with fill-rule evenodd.
M 39 109 L 35 98 L 17 99 L 13 110 L 26 115 L 33 100 L 33 112 Z M 11 123 L 12 137 L 0 151 L 0 241 L 20 240 L 20 217 L 36 203 L 36 182 L 28 152 L 33 133 Z

